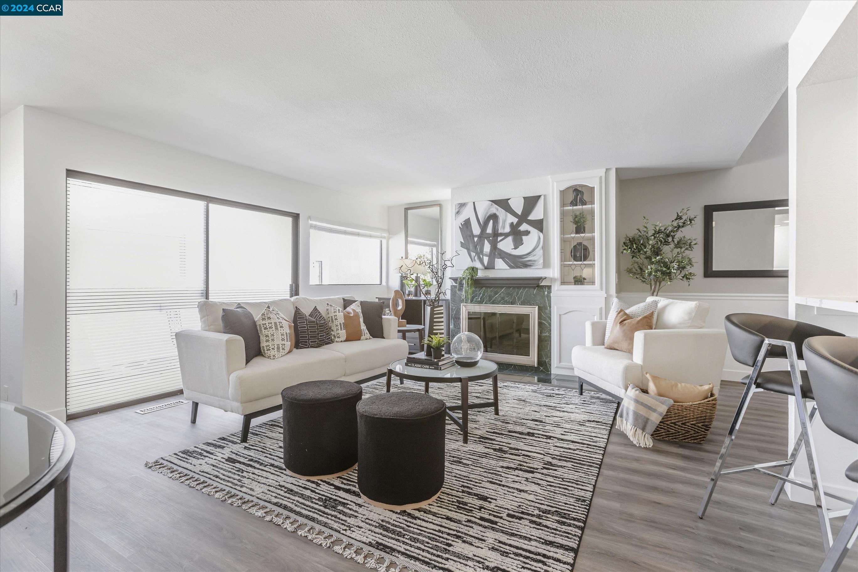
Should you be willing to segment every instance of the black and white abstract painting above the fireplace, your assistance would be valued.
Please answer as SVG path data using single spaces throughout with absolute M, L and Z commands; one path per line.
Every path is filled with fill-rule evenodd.
M 456 203 L 456 268 L 542 268 L 541 195 Z

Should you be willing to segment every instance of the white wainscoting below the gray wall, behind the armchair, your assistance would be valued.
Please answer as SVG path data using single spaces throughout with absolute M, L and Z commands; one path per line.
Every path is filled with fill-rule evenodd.
M 626 304 L 640 304 L 649 296 L 646 292 L 620 292 L 617 298 Z M 738 312 L 752 314 L 768 314 L 769 316 L 789 317 L 789 296 L 787 294 L 719 294 L 719 293 L 662 293 L 662 298 L 676 300 L 692 300 L 709 304 L 709 316 L 706 317 L 706 328 L 724 328 L 724 316 Z M 781 359 L 773 359 L 766 363 L 766 370 L 787 369 L 780 364 Z M 742 377 L 751 373 L 751 368 L 734 360 L 730 352 L 724 358 L 722 379 L 738 382 Z

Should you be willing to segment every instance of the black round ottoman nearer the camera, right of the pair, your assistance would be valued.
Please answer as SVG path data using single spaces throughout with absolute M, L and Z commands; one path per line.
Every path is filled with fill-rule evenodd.
M 432 503 L 444 486 L 444 401 L 401 391 L 358 403 L 358 489 L 388 510 Z

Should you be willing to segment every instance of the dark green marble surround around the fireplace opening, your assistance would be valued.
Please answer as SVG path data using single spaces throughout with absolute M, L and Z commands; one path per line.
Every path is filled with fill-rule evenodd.
M 456 277 L 450 279 L 450 337 L 462 332 L 462 286 Z M 539 335 L 536 367 L 505 364 L 498 361 L 501 373 L 536 376 L 551 380 L 551 286 L 541 286 L 541 276 L 480 276 L 474 280 L 474 295 L 469 304 L 522 305 L 539 308 Z

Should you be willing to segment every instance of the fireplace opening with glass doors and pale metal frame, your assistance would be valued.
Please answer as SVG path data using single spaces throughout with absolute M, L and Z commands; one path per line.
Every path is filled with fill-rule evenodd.
M 537 364 L 539 306 L 462 304 L 462 331 L 480 336 L 483 358 Z

